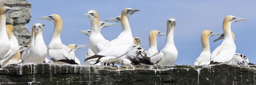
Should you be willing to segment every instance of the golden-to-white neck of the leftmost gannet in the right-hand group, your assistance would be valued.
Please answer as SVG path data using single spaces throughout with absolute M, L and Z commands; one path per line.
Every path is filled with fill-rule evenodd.
M 209 37 L 201 36 L 202 51 L 210 51 Z

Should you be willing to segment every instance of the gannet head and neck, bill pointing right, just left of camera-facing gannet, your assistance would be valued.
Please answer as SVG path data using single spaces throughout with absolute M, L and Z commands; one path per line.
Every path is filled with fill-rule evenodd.
M 157 50 L 157 37 L 166 35 L 166 33 L 159 32 L 158 30 L 152 30 L 149 33 L 148 41 L 149 41 L 149 48 L 148 48 L 148 54 L 150 57 L 152 57 L 154 54 L 158 54 Z

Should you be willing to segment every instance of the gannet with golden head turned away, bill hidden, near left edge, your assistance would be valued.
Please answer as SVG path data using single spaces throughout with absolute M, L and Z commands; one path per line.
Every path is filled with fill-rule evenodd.
M 3 67 L 5 64 L 8 63 L 8 61 L 10 59 L 12 59 L 19 50 L 19 43 L 17 38 L 14 36 L 14 34 L 12 33 L 13 31 L 13 27 L 11 25 L 6 25 L 6 31 L 7 31 L 7 35 L 8 35 L 8 39 L 10 40 L 10 50 L 11 50 L 11 54 L 3 59 L 0 59 L 0 65 Z

